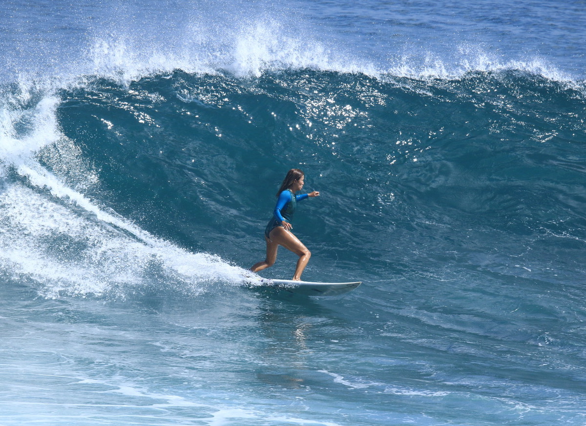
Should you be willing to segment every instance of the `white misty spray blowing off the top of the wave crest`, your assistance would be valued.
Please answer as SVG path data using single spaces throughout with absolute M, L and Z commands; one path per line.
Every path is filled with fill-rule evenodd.
M 405 46 L 407 53 L 393 51 L 386 59 L 369 60 L 360 56 L 356 46 L 343 46 L 290 17 L 247 18 L 236 12 L 232 19 L 222 21 L 222 30 L 218 22 L 206 22 L 203 17 L 185 21 L 176 27 L 163 26 L 158 32 L 152 23 L 146 25 L 151 29 L 137 28 L 131 33 L 116 26 L 94 29 L 87 45 L 79 47 L 74 63 L 59 64 L 60 75 L 40 75 L 37 71 L 35 75 L 22 74 L 20 81 L 36 85 L 37 90 L 49 90 L 83 85 L 87 78 L 96 76 L 128 85 L 142 77 L 178 69 L 195 74 L 228 72 L 236 77 L 260 77 L 267 71 L 312 68 L 384 79 L 455 79 L 472 71 L 520 70 L 552 81 L 580 83 L 546 59 L 505 58 L 482 46 L 455 46 L 452 53 L 446 51 L 442 56 Z

